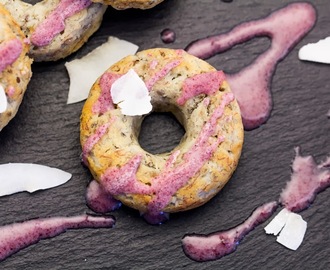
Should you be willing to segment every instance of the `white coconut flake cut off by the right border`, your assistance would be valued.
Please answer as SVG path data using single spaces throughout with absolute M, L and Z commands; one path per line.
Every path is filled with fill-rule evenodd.
M 330 37 L 303 46 L 298 57 L 300 60 L 330 64 Z

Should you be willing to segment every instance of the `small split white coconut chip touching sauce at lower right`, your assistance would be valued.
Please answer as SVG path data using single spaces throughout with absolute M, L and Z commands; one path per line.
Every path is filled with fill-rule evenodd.
M 267 234 L 278 235 L 276 241 L 291 250 L 297 250 L 301 245 L 306 229 L 307 222 L 285 208 L 265 227 Z

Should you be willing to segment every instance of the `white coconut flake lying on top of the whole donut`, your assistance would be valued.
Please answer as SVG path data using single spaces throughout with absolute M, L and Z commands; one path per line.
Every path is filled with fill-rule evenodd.
M 143 115 L 152 110 L 148 88 L 133 69 L 116 80 L 110 91 L 113 102 L 124 115 Z

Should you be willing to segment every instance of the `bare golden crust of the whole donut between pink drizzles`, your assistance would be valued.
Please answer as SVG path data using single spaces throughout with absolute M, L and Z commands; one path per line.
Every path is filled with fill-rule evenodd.
M 170 111 L 182 123 L 186 134 L 180 144 L 170 153 L 152 155 L 146 152 L 138 143 L 138 133 L 143 121 L 142 116 L 125 116 L 119 109 L 112 109 L 104 113 L 93 112 L 93 106 L 101 94 L 100 79 L 90 91 L 81 115 L 81 144 L 83 150 L 88 139 L 97 130 L 111 122 L 107 132 L 86 152 L 86 160 L 93 176 L 101 181 L 108 168 L 121 168 L 136 155 L 142 155 L 136 177 L 141 183 L 152 186 L 152 179 L 164 169 L 169 156 L 179 150 L 180 154 L 174 166 L 183 162 L 183 155 L 196 142 L 205 122 L 215 111 L 226 93 L 231 93 L 224 81 L 215 94 L 209 95 L 209 105 L 205 105 L 204 94 L 189 99 L 183 106 L 176 104 L 182 92 L 185 79 L 194 75 L 214 72 L 215 69 L 184 51 L 170 49 L 150 49 L 128 56 L 108 69 L 108 73 L 125 74 L 129 69 L 134 70 L 146 82 L 157 72 L 163 70 L 170 63 L 179 61 L 163 78 L 160 78 L 150 91 L 153 111 Z M 153 63 L 158 63 L 156 67 Z M 170 203 L 163 209 L 166 212 L 177 212 L 195 208 L 210 200 L 230 179 L 240 157 L 243 145 L 243 126 L 237 102 L 230 102 L 224 114 L 217 119 L 216 134 L 210 137 L 210 143 L 216 137 L 223 136 L 225 140 L 214 151 L 211 158 L 205 162 L 200 170 L 180 188 Z M 119 194 L 115 196 L 124 204 L 147 211 L 152 194 Z

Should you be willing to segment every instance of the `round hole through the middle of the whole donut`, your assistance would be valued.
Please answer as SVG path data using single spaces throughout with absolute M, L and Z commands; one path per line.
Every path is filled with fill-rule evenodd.
M 138 140 L 141 147 L 151 154 L 162 154 L 179 145 L 186 131 L 171 112 L 152 112 L 141 124 Z

